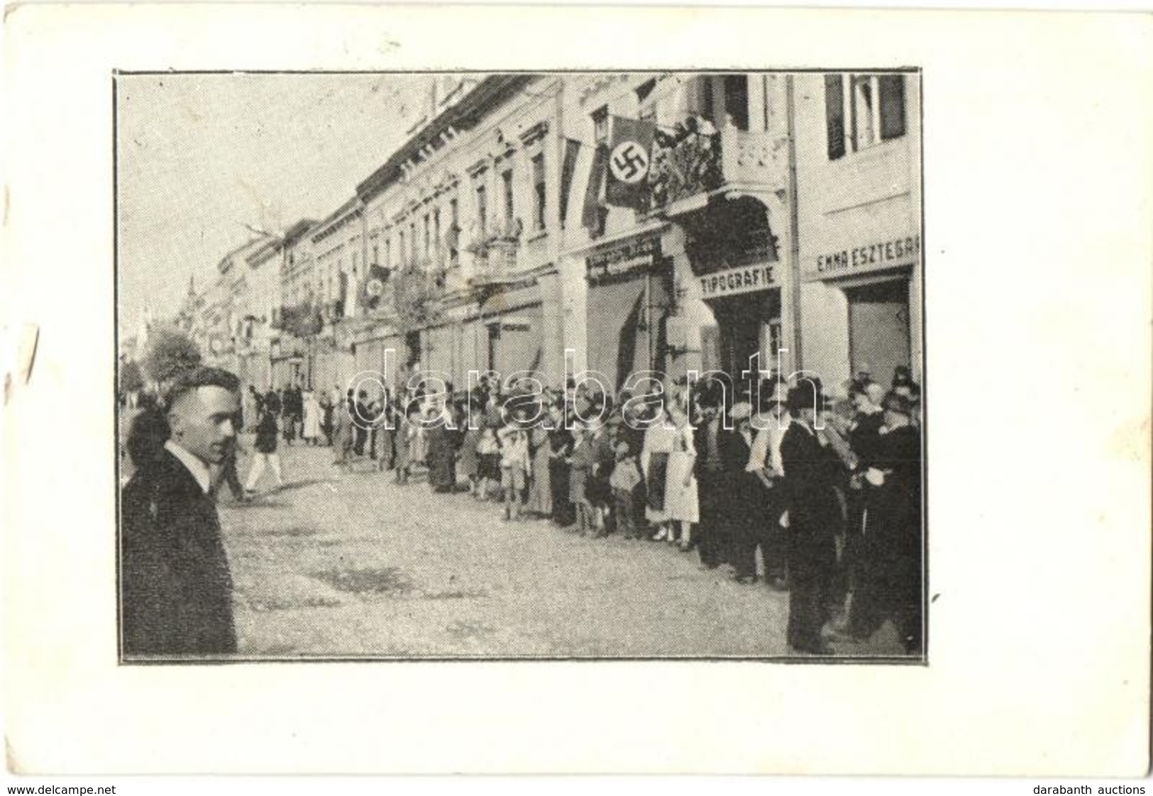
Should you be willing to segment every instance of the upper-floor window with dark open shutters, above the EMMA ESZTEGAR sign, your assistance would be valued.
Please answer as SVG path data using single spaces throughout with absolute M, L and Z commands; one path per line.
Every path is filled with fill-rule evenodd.
M 905 134 L 904 75 L 826 75 L 824 99 L 831 160 Z

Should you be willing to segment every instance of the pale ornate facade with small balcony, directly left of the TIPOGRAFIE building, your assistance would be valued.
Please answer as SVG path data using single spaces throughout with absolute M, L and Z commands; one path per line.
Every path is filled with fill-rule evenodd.
M 485 78 L 359 186 L 371 273 L 357 370 L 455 388 L 469 370 L 560 373 L 562 91 L 549 76 Z

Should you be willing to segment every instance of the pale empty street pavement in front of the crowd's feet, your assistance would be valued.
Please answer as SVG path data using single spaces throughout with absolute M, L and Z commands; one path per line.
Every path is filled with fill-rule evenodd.
M 784 656 L 787 595 L 695 551 L 581 538 L 497 503 L 281 444 L 251 503 L 223 497 L 241 653 L 264 656 Z M 240 461 L 247 475 L 248 457 Z M 227 490 L 224 490 L 227 494 Z M 888 633 L 888 638 L 886 637 Z M 891 628 L 850 654 L 894 654 Z

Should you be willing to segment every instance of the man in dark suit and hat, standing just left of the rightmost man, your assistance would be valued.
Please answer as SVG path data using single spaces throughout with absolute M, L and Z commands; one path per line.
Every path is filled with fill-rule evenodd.
M 843 472 L 836 455 L 817 438 L 814 423 L 824 407 L 820 386 L 809 380 L 789 390 L 792 418 L 781 441 L 787 501 L 789 646 L 817 655 L 832 651 L 821 637 L 828 617 L 835 538 L 841 503 L 835 485 Z

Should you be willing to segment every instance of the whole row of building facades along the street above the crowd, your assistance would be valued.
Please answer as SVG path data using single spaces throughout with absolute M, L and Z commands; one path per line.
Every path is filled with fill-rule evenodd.
M 779 366 L 832 392 L 862 367 L 919 378 L 915 73 L 429 85 L 353 196 L 229 253 L 197 298 L 189 325 L 209 346 L 250 324 L 242 347 L 233 332 L 213 351 L 243 378 L 342 391 L 369 374 L 375 391 L 420 370 L 464 389 L 491 370 L 559 386 L 571 368 L 608 392 L 646 386 L 630 383 L 642 371 Z M 265 340 L 266 374 L 249 361 Z

